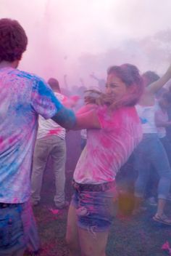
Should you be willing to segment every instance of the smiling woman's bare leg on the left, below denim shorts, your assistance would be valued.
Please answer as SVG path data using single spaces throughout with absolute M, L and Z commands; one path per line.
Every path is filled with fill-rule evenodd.
M 78 237 L 77 215 L 75 207 L 70 204 L 67 215 L 67 235 L 66 240 L 70 249 L 70 256 L 80 256 L 80 244 Z

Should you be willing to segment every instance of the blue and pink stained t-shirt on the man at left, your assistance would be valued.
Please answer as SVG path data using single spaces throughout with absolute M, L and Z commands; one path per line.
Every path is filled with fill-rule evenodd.
M 38 114 L 49 119 L 62 108 L 50 87 L 14 68 L 0 69 L 0 202 L 30 196 L 30 171 Z

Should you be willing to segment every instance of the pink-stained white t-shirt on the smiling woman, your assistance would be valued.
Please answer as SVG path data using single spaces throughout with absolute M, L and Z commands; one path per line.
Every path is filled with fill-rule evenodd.
M 115 179 L 142 138 L 135 108 L 120 108 L 109 113 L 97 108 L 101 129 L 88 129 L 87 144 L 74 172 L 77 183 L 98 184 Z

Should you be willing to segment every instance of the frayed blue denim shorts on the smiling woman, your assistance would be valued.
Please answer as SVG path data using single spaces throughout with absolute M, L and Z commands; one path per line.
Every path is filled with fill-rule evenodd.
M 116 188 L 108 191 L 75 189 L 71 204 L 76 209 L 78 227 L 91 232 L 109 231 L 117 212 Z

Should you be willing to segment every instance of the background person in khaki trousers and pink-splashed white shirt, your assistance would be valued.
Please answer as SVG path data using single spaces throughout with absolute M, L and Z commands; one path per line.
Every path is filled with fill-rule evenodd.
M 49 86 L 59 101 L 64 103 L 67 97 L 61 94 L 59 82 L 51 78 Z M 54 203 L 58 209 L 67 207 L 68 202 L 64 197 L 65 185 L 65 163 L 66 163 L 66 130 L 51 119 L 38 118 L 38 135 L 33 155 L 33 170 L 31 175 L 31 198 L 33 206 L 38 205 L 41 200 L 41 185 L 43 172 L 51 156 L 51 171 L 54 172 L 56 193 Z

